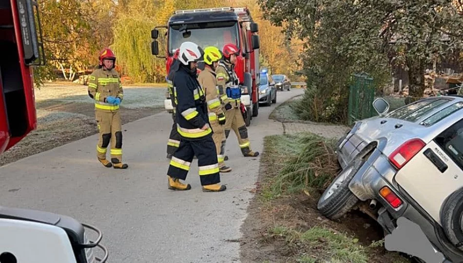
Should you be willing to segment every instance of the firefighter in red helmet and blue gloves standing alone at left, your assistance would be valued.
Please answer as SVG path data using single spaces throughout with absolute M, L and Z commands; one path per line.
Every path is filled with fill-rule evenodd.
M 122 163 L 122 127 L 119 105 L 124 93 L 119 74 L 114 69 L 116 55 L 105 48 L 99 55 L 99 66 L 90 75 L 88 94 L 95 100 L 95 118 L 99 130 L 96 145 L 98 161 L 105 167 L 127 169 Z M 106 150 L 111 141 L 111 162 L 106 160 Z

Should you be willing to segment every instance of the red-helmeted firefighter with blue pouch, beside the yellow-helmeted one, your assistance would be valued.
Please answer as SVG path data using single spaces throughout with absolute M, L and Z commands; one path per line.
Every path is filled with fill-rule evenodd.
M 222 48 L 223 61 L 216 69 L 217 86 L 225 107 L 225 137 L 228 139 L 230 130 L 236 134 L 241 152 L 245 157 L 256 157 L 259 152 L 251 150 L 248 138 L 248 129 L 241 113 L 241 88 L 238 85 L 238 76 L 234 71 L 236 57 L 239 50 L 234 44 L 226 44 Z

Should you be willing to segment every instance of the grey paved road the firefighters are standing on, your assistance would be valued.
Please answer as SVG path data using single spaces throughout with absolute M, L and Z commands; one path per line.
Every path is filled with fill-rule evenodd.
M 278 104 L 302 90 L 278 92 Z M 262 152 L 264 136 L 282 132 L 268 119 L 275 108 L 261 107 L 249 127 L 251 148 Z M 171 117 L 159 113 L 128 123 L 124 129 L 127 170 L 96 162 L 97 136 L 30 156 L 0 168 L 0 204 L 69 215 L 96 225 L 110 251 L 109 263 L 239 262 L 240 226 L 259 169 L 259 159 L 244 158 L 236 137 L 227 141 L 222 174 L 228 189 L 203 193 L 193 162 L 190 191 L 167 189 L 166 141 Z M 50 138 L 53 140 L 53 138 Z

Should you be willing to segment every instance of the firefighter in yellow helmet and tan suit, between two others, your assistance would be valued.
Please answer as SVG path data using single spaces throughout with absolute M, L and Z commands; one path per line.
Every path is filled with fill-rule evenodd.
M 199 84 L 206 94 L 206 101 L 209 112 L 209 122 L 213 131 L 212 139 L 217 151 L 220 172 L 230 172 L 231 168 L 224 163 L 225 153 L 225 113 L 222 102 L 220 101 L 219 91 L 216 85 L 215 69 L 218 61 L 222 58 L 220 50 L 209 46 L 204 49 L 204 70 L 198 76 Z

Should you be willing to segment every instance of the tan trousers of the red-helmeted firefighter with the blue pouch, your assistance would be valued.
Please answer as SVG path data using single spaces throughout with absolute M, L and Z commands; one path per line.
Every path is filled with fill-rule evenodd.
M 251 142 L 248 138 L 248 129 L 240 108 L 232 108 L 225 112 L 225 138 L 228 139 L 233 130 L 238 138 L 238 144 L 243 155 L 251 152 Z

